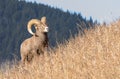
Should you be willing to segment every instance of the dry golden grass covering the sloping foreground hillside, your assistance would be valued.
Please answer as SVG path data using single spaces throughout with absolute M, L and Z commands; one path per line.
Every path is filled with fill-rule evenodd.
M 6 67 L 0 79 L 120 79 L 120 21 L 90 29 L 49 52 L 31 65 Z

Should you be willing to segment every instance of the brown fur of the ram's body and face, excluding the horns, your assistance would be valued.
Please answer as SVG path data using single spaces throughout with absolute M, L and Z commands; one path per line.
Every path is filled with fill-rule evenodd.
M 33 23 L 33 25 L 36 27 L 36 33 L 21 44 L 22 63 L 32 61 L 33 57 L 43 54 L 45 47 L 48 47 L 47 32 L 44 32 L 45 27 L 47 27 L 46 23 L 40 21 L 40 23 Z

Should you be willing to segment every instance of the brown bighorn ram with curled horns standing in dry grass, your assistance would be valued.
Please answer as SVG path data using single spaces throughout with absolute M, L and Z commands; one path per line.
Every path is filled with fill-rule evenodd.
M 31 27 L 34 26 L 36 32 L 33 33 Z M 41 20 L 32 19 L 27 25 L 28 32 L 32 34 L 32 37 L 26 39 L 21 44 L 21 62 L 31 61 L 31 59 L 40 53 L 44 53 L 45 47 L 48 46 L 48 26 L 46 24 L 46 17 L 42 17 Z M 29 59 L 29 55 L 32 56 Z

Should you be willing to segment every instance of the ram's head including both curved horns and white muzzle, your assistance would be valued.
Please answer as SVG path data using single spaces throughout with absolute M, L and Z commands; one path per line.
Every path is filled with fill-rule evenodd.
M 48 26 L 46 24 L 46 17 L 42 17 L 41 20 L 32 19 L 28 22 L 28 25 L 27 25 L 28 32 L 32 35 L 35 35 L 36 33 L 34 33 L 31 29 L 32 26 L 35 27 L 36 33 L 48 32 Z

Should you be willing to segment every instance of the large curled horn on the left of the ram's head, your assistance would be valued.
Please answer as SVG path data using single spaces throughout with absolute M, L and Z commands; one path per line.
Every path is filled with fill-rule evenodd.
M 37 25 L 40 25 L 40 20 L 38 19 L 32 19 L 28 22 L 28 25 L 27 25 L 27 30 L 30 34 L 34 35 L 35 33 L 32 32 L 32 29 L 31 27 L 35 25 L 37 27 Z

